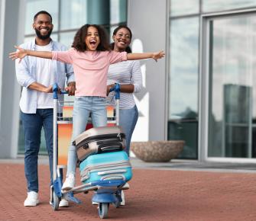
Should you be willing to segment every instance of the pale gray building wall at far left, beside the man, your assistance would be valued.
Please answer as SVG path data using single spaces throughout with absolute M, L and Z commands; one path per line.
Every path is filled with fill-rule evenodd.
M 8 53 L 24 37 L 24 0 L 1 0 L 0 7 L 0 158 L 15 158 L 21 88 L 15 77 L 15 62 Z

